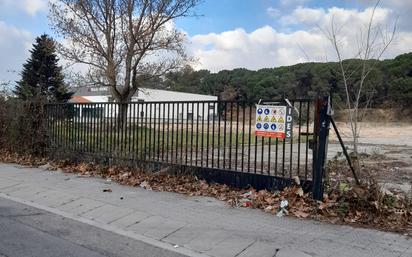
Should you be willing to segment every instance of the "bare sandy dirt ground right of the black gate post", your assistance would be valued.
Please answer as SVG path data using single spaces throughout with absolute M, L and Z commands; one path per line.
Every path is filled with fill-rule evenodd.
M 348 124 L 337 123 L 347 147 L 351 132 Z M 339 155 L 340 145 L 333 130 L 330 133 L 329 158 Z M 388 190 L 412 196 L 412 123 L 361 123 L 359 150 L 361 164 Z M 340 157 L 342 158 L 342 156 Z

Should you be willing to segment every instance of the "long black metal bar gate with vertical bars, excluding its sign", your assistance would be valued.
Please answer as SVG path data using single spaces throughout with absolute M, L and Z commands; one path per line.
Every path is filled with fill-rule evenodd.
M 48 104 L 46 124 L 51 148 L 310 181 L 315 106 L 290 103 L 290 139 L 255 136 L 255 105 L 233 101 Z

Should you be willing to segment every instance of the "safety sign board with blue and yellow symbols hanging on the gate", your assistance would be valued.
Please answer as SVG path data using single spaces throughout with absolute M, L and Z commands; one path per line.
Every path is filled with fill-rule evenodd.
M 257 105 L 255 135 L 271 138 L 292 137 L 292 108 Z

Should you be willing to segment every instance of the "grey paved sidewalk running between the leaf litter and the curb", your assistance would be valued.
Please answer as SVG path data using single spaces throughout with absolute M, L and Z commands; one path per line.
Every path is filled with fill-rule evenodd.
M 103 192 L 108 188 L 112 192 Z M 397 234 L 277 218 L 260 210 L 231 208 L 213 198 L 153 192 L 17 165 L 0 164 L 1 197 L 190 256 L 412 257 L 412 240 Z

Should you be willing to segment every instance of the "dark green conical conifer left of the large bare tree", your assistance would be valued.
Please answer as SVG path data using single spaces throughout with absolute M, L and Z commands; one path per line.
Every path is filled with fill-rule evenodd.
M 66 102 L 72 93 L 64 83 L 62 68 L 58 65 L 56 45 L 43 34 L 36 38 L 31 56 L 23 65 L 21 80 L 14 93 L 22 100 L 44 99 L 49 102 Z

